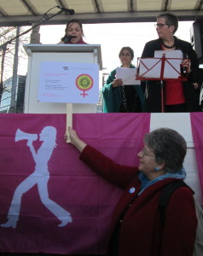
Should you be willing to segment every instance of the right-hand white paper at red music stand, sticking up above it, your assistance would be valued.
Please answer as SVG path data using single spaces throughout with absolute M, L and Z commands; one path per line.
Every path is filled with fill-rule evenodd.
M 175 50 L 155 50 L 154 57 L 162 58 L 165 55 L 164 79 L 178 79 L 181 73 L 181 63 L 183 62 L 183 51 Z

